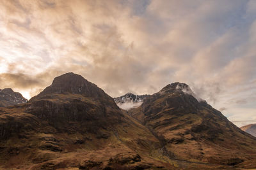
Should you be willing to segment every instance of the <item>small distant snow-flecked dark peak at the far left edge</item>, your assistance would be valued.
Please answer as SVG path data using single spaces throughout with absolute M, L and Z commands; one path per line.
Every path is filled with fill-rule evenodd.
M 10 88 L 0 89 L 0 107 L 13 106 L 27 101 L 19 92 L 13 92 Z

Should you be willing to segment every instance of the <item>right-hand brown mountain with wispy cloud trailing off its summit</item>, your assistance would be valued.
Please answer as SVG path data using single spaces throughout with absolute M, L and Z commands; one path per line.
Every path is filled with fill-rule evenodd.
M 198 101 L 184 83 L 167 85 L 130 113 L 162 141 L 170 159 L 238 166 L 256 158 L 256 138 Z

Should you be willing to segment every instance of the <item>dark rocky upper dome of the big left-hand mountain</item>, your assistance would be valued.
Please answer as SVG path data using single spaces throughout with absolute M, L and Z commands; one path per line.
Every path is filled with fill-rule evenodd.
M 96 131 L 122 119 L 120 109 L 108 94 L 74 73 L 54 78 L 51 86 L 28 101 L 28 106 L 26 112 L 47 120 L 58 129 L 63 127 L 60 124 L 85 121 L 83 128 L 77 128 L 79 131 Z

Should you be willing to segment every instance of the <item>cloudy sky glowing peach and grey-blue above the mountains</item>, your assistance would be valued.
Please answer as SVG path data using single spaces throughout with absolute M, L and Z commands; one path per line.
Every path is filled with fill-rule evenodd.
M 256 123 L 256 1 L 1 0 L 0 89 L 35 96 L 62 73 L 116 97 L 188 83 Z

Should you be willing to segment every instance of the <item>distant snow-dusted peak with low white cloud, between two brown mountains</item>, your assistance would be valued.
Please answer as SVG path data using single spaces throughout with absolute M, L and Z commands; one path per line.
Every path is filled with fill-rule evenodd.
M 150 95 L 134 95 L 132 93 L 127 93 L 124 96 L 115 97 L 114 100 L 119 108 L 130 110 L 131 108 L 137 108 L 140 106 L 148 96 Z

